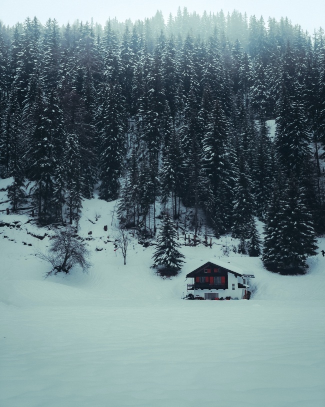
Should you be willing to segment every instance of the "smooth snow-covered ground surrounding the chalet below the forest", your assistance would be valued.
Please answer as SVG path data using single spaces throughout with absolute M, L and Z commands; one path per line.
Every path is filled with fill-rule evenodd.
M 0 224 L 19 222 L 0 227 L 1 406 L 325 405 L 321 254 L 309 259 L 308 274 L 284 277 L 256 258 L 224 257 L 222 245 L 235 243 L 228 237 L 211 249 L 182 247 L 181 273 L 162 280 L 150 269 L 152 247 L 134 239 L 126 266 L 115 256 L 113 207 L 83 202 L 89 273 L 47 279 L 35 250 L 48 236 L 31 234 L 53 232 L 0 213 Z M 251 300 L 182 300 L 186 274 L 219 258 L 255 275 Z

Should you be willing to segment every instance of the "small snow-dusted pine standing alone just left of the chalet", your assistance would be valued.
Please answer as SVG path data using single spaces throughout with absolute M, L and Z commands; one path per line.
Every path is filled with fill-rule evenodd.
M 162 276 L 176 275 L 184 263 L 182 260 L 184 256 L 178 250 L 180 244 L 176 226 L 168 213 L 163 218 L 156 242 L 156 249 L 152 256 L 153 267 L 160 266 L 158 271 Z

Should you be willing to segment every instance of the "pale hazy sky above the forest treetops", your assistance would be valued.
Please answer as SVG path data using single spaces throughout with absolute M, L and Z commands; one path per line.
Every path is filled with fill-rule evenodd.
M 26 17 L 36 16 L 41 23 L 48 18 L 55 18 L 59 25 L 74 20 L 90 21 L 91 17 L 96 23 L 104 25 L 110 17 L 119 21 L 130 18 L 132 21 L 152 17 L 157 10 L 161 10 L 165 21 L 169 13 L 176 15 L 177 8 L 187 7 L 188 12 L 196 11 L 202 14 L 207 12 L 224 13 L 234 9 L 241 13 L 246 12 L 248 17 L 263 16 L 266 22 L 268 17 L 279 20 L 287 17 L 292 24 L 300 24 L 303 30 L 310 34 L 314 28 L 321 26 L 325 29 L 325 1 L 324 0 L 0 0 L 0 20 L 12 26 L 16 22 L 23 22 Z

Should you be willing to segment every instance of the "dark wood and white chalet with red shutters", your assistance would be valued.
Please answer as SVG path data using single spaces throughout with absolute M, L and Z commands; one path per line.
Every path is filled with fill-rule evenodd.
M 192 282 L 187 284 L 187 291 L 194 297 L 203 297 L 205 300 L 216 298 L 247 299 L 249 285 L 247 280 L 254 278 L 252 274 L 244 274 L 241 270 L 232 267 L 230 263 L 207 262 L 186 275 Z

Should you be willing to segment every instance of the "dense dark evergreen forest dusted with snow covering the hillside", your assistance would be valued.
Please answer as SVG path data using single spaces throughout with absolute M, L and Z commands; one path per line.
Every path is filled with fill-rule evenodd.
M 269 268 L 296 269 L 325 228 L 325 38 L 287 19 L 161 13 L 136 23 L 0 25 L 0 175 L 16 210 L 77 220 L 96 185 L 126 226 L 157 200 L 204 210 Z M 274 139 L 266 121 L 276 118 Z M 153 217 L 154 219 L 154 217 Z M 151 227 L 151 225 L 150 225 Z M 155 225 L 152 227 L 155 227 Z

